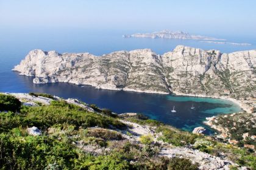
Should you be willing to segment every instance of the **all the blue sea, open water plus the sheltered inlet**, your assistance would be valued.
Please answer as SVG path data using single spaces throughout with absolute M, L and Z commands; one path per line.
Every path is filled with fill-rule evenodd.
M 221 36 L 228 42 L 251 43 L 252 46 L 208 44 L 197 40 L 123 38 L 123 34 L 136 31 L 84 30 L 84 29 L 0 29 L 0 92 L 44 92 L 63 98 L 78 98 L 85 103 L 97 104 L 118 114 L 139 112 L 185 131 L 204 126 L 206 134 L 214 131 L 205 126 L 205 117 L 240 112 L 241 108 L 227 100 L 172 95 L 141 94 L 115 90 L 94 89 L 69 83 L 33 84 L 31 77 L 24 77 L 11 69 L 32 49 L 63 52 L 90 52 L 103 55 L 117 50 L 152 49 L 158 54 L 173 50 L 177 45 L 205 50 L 216 49 L 222 53 L 256 49 L 254 38 Z M 211 36 L 211 35 L 208 35 Z M 194 105 L 195 109 L 190 107 Z M 172 113 L 175 106 L 176 113 Z

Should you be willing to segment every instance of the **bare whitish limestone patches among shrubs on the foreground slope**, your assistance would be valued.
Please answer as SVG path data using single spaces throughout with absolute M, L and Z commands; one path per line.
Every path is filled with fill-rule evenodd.
M 63 101 L 63 99 L 59 97 L 53 97 L 53 98 L 46 98 L 41 96 L 33 96 L 29 94 L 11 94 L 14 97 L 18 98 L 23 105 L 29 106 L 30 109 L 33 109 L 33 107 L 40 107 L 43 109 L 44 107 L 50 106 L 52 101 Z M 71 99 L 65 100 L 66 104 L 74 104 L 76 106 L 82 107 L 85 110 L 88 110 L 93 114 L 95 112 L 99 115 L 104 115 L 102 112 L 98 112 L 93 109 L 93 107 L 90 107 L 90 105 L 86 103 L 82 103 L 79 100 Z M 1 112 L 0 112 L 1 113 Z M 5 112 L 2 114 L 6 114 Z M 29 114 L 28 114 L 29 115 Z M 166 132 L 158 132 L 158 128 L 160 126 L 148 126 L 148 125 L 141 125 L 138 123 L 133 123 L 130 121 L 127 121 L 124 119 L 124 117 L 136 117 L 137 114 L 121 114 L 119 117 L 116 117 L 116 120 L 121 121 L 122 123 L 126 124 L 125 128 L 118 129 L 116 127 L 109 127 L 107 129 L 102 127 L 88 127 L 88 132 L 94 132 L 94 135 L 97 135 L 98 133 L 102 132 L 108 132 L 108 135 L 110 135 L 110 132 L 112 134 L 119 134 L 121 137 L 115 141 L 115 148 L 118 148 L 118 146 L 122 143 L 125 143 L 129 141 L 130 143 L 134 144 L 140 144 L 141 145 L 141 137 L 145 135 L 149 135 L 152 137 L 152 143 L 155 144 L 155 147 L 158 149 L 157 157 L 180 157 L 180 158 L 188 158 L 193 163 L 197 163 L 199 165 L 199 169 L 230 169 L 231 166 L 235 166 L 238 169 L 244 169 L 245 167 L 241 167 L 234 163 L 232 160 L 229 159 L 227 155 L 222 153 L 222 151 L 218 151 L 221 153 L 222 156 L 215 156 L 211 154 L 207 154 L 206 152 L 199 151 L 198 149 L 194 149 L 195 144 L 185 144 L 185 146 L 176 146 L 174 144 L 165 142 L 161 139 L 163 135 L 165 135 Z M 3 120 L 2 120 L 3 121 Z M 142 121 L 142 120 L 141 120 Z M 39 124 L 38 124 L 39 125 Z M 31 127 L 27 128 L 26 131 L 28 131 L 29 135 L 38 136 L 41 135 L 42 132 L 40 129 L 43 129 L 42 127 Z M 45 129 L 45 128 L 44 128 Z M 82 131 L 82 126 L 79 127 L 79 131 Z M 70 130 L 69 130 L 70 131 Z M 165 130 L 166 131 L 166 130 Z M 174 131 L 177 131 L 175 129 L 169 129 L 168 131 L 174 133 Z M 37 133 L 35 133 L 37 132 Z M 74 140 L 72 144 L 76 146 L 77 148 L 82 149 L 85 153 L 92 153 L 94 157 L 97 155 L 104 155 L 104 154 L 110 154 L 110 151 L 113 149 L 110 146 L 98 146 L 95 144 L 91 145 L 88 143 L 83 143 L 83 140 L 78 140 L 79 138 L 82 138 L 84 134 L 75 134 L 74 129 L 71 130 L 71 134 L 69 134 L 69 140 Z M 185 132 L 177 131 L 178 133 L 182 134 Z M 68 133 L 64 129 L 58 129 L 57 127 L 49 127 L 44 131 L 45 137 L 52 137 L 53 135 L 57 136 L 57 140 L 65 140 L 64 134 Z M 70 133 L 70 132 L 69 132 Z M 87 134 L 88 135 L 88 134 Z M 190 135 L 187 133 L 186 137 L 190 137 Z M 197 139 L 204 138 L 202 135 L 194 135 Z M 20 137 L 21 138 L 21 137 Z M 63 139 L 62 139 L 63 138 Z M 181 141 L 182 138 L 179 138 L 179 143 L 185 143 L 185 141 Z M 185 138 L 183 138 L 185 140 Z M 207 138 L 205 138 L 207 140 Z M 108 140 L 108 142 L 112 142 L 113 140 Z M 66 143 L 67 141 L 65 141 Z M 69 141 L 70 142 L 70 141 Z M 40 148 L 40 144 L 38 144 L 38 148 Z M 138 153 L 137 153 L 138 154 Z

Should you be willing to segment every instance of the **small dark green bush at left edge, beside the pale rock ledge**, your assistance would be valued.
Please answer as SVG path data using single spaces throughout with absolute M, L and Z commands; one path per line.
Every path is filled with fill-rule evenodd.
M 21 102 L 12 95 L 0 94 L 0 111 L 17 112 L 20 110 Z

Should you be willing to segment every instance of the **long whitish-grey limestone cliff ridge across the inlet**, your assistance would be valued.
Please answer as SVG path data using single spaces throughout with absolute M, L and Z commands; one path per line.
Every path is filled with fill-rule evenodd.
M 32 50 L 13 70 L 34 83 L 68 82 L 102 89 L 200 95 L 256 96 L 256 50 L 220 53 L 177 46 L 157 55 L 150 49 L 103 56 Z

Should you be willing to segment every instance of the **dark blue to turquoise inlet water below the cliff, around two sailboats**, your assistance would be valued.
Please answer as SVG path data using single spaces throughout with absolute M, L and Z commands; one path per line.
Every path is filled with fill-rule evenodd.
M 111 109 L 122 114 L 137 112 L 163 123 L 193 131 L 194 127 L 203 126 L 211 135 L 215 131 L 204 125 L 206 117 L 218 114 L 241 112 L 240 106 L 229 100 L 218 98 L 182 97 L 163 94 L 144 94 L 118 90 L 95 89 L 91 86 L 77 86 L 70 83 L 33 84 L 32 77 L 24 77 L 13 72 L 18 79 L 16 87 L 5 90 L 6 92 L 40 92 L 56 95 L 62 98 L 77 98 L 88 104 L 96 104 L 102 108 Z M 191 109 L 191 106 L 195 109 Z M 175 106 L 176 113 L 172 113 Z

